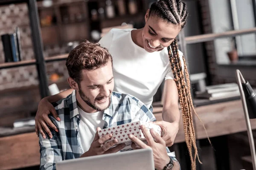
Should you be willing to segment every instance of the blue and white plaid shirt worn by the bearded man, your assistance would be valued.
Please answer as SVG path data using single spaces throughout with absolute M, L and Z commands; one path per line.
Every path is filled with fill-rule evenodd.
M 50 115 L 49 118 L 59 132 L 50 128 L 52 139 L 49 136 L 44 139 L 41 134 L 39 135 L 40 170 L 55 170 L 55 164 L 58 161 L 79 158 L 83 154 L 81 139 L 78 135 L 80 116 L 76 91 L 74 90 L 67 98 L 61 99 L 53 105 L 61 121 L 58 122 Z M 156 121 L 152 112 L 134 96 L 112 92 L 111 105 L 103 113 L 102 119 L 105 121 L 103 128 L 129 123 L 137 114 L 140 114 L 142 121 Z M 167 153 L 170 153 L 168 147 L 166 150 Z M 175 157 L 170 156 L 170 158 L 176 160 Z

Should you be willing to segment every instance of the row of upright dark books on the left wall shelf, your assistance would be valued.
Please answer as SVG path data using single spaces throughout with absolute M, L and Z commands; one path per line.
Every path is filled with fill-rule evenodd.
M 20 29 L 15 28 L 13 34 L 1 35 L 5 62 L 17 62 L 22 60 Z

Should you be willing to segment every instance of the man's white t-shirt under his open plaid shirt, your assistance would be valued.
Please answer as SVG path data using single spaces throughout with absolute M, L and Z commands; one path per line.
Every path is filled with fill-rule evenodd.
M 96 113 L 86 113 L 81 108 L 78 107 L 80 114 L 79 122 L 79 136 L 81 138 L 81 147 L 84 152 L 87 152 L 93 142 L 96 128 L 103 128 L 105 121 L 102 120 L 103 111 Z

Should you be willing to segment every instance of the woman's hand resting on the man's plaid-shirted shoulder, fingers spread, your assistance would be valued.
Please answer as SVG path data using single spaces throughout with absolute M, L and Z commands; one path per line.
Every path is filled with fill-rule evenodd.
M 39 136 L 38 134 L 38 131 L 39 131 L 44 139 L 46 138 L 44 130 L 48 133 L 49 137 L 52 138 L 52 133 L 49 130 L 48 126 L 52 127 L 52 129 L 58 132 L 57 127 L 52 123 L 52 121 L 48 117 L 50 113 L 52 113 L 53 117 L 57 121 L 61 121 L 61 119 L 58 117 L 57 112 L 55 111 L 55 108 L 47 100 L 47 98 L 41 99 L 41 101 L 38 104 L 38 110 L 35 115 L 35 132 L 37 136 Z

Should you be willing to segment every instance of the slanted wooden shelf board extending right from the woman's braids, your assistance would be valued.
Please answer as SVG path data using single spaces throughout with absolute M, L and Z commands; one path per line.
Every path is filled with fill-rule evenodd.
M 256 27 L 249 28 L 249 29 L 226 31 L 222 33 L 202 34 L 202 35 L 185 37 L 185 42 L 186 44 L 193 44 L 193 43 L 213 41 L 217 38 L 236 37 L 237 35 L 251 34 L 251 33 L 256 33 Z

